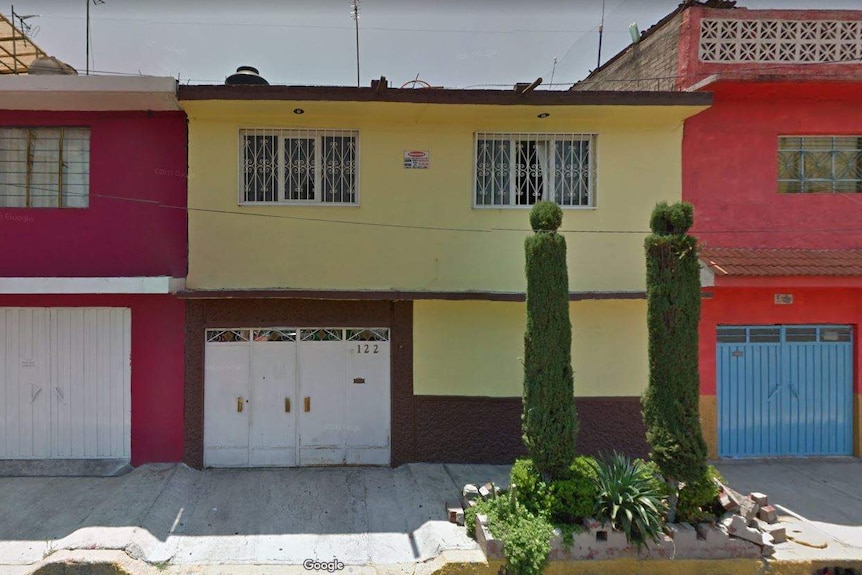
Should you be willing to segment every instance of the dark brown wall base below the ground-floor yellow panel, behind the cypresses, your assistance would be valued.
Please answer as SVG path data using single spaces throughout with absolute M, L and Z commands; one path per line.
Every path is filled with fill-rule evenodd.
M 579 397 L 578 452 L 646 457 L 638 397 Z M 521 441 L 521 398 L 416 396 L 416 461 L 512 463 Z

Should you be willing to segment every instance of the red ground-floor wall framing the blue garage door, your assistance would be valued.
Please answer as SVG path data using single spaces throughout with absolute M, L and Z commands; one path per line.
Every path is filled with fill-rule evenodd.
M 862 288 L 708 288 L 702 301 L 700 393 L 715 395 L 715 329 L 718 325 L 842 324 L 852 325 L 856 345 L 854 393 L 862 393 Z M 776 305 L 776 293 L 793 294 L 793 304 Z

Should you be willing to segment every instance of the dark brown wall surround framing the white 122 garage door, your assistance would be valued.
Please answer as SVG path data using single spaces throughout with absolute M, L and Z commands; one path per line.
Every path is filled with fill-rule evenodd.
M 391 331 L 392 465 L 415 461 L 413 304 L 311 299 L 188 300 L 184 461 L 203 466 L 205 330 L 213 327 L 388 327 Z

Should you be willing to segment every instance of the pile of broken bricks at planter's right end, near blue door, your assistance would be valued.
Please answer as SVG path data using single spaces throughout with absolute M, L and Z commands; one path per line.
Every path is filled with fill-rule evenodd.
M 719 501 L 726 513 L 718 525 L 731 537 L 745 539 L 763 550 L 769 557 L 775 553 L 775 544 L 787 540 L 785 528 L 778 525 L 778 511 L 769 504 L 763 493 L 750 493 L 748 497 L 718 482 Z

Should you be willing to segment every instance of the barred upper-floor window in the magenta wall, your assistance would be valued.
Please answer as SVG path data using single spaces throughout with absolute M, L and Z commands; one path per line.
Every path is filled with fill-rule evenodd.
M 56 149 L 48 150 L 48 149 L 34 149 L 31 147 L 32 136 L 35 134 L 36 137 L 39 137 L 39 132 L 46 131 L 56 131 L 57 139 L 56 139 Z M 5 146 L 9 145 L 9 142 L 15 140 L 13 136 L 15 136 L 12 132 L 22 132 L 26 133 L 26 139 L 23 144 L 23 150 L 16 148 L 8 148 L 4 149 Z M 9 132 L 8 134 L 6 132 Z M 83 165 L 83 169 L 80 172 L 72 172 L 67 170 L 70 163 L 76 163 L 73 159 L 66 157 L 64 159 L 64 142 L 65 136 L 67 134 L 71 134 L 72 132 L 77 132 L 79 137 L 77 140 L 81 142 L 86 142 L 81 145 L 80 149 L 70 149 L 68 152 L 70 154 L 77 154 L 82 156 L 79 158 L 78 164 Z M 19 134 L 20 135 L 20 134 Z M 2 209 L 69 209 L 69 210 L 81 210 L 87 209 L 90 207 L 90 167 L 91 167 L 91 158 L 90 158 L 90 143 L 91 143 L 91 133 L 89 126 L 0 126 L 0 174 L 3 174 L 5 177 L 4 182 L 0 183 L 0 194 L 4 194 L 7 197 L 12 196 L 23 196 L 24 197 L 24 205 L 23 206 L 15 206 L 15 205 L 4 205 L 0 206 Z M 12 163 L 13 165 L 17 164 L 18 161 L 14 158 L 17 153 L 23 152 L 24 154 L 24 171 L 18 172 L 8 172 L 7 164 Z M 37 170 L 36 164 L 46 164 L 48 161 L 45 159 L 37 160 L 36 154 L 39 153 L 49 153 L 55 154 L 56 158 L 52 158 L 50 160 L 51 170 L 43 171 Z M 84 159 L 85 158 L 85 159 Z M 17 175 L 17 178 L 10 178 L 9 176 Z M 33 182 L 33 179 L 38 179 L 38 176 L 56 176 L 56 182 Z M 75 183 L 72 181 L 68 181 L 71 178 L 75 178 L 80 180 Z M 11 180 L 21 180 L 17 183 L 9 183 L 9 179 Z M 56 186 L 56 192 L 48 189 L 45 186 Z M 64 187 L 71 188 L 64 189 Z M 75 191 L 77 190 L 77 191 Z M 42 196 L 42 197 L 50 197 L 56 193 L 56 201 L 47 205 L 45 203 L 33 202 L 32 197 Z M 5 203 L 5 202 L 4 202 Z

